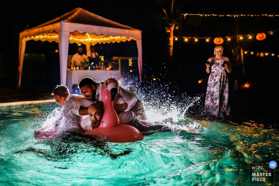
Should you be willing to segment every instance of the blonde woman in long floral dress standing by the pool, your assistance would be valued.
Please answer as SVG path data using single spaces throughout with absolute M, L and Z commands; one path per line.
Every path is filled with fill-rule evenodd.
M 216 117 L 230 116 L 228 74 L 232 72 L 229 58 L 223 56 L 223 47 L 217 45 L 214 57 L 209 58 L 206 72 L 210 74 L 205 95 L 204 114 Z

